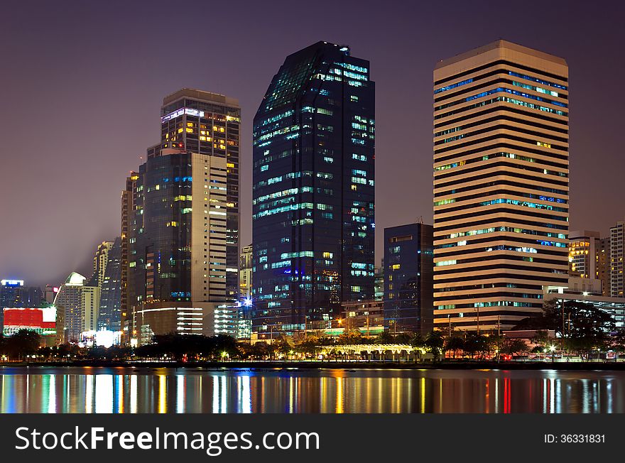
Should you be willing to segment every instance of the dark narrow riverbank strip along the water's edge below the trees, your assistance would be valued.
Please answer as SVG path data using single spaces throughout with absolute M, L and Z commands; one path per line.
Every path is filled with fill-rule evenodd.
M 396 361 L 48 361 L 48 362 L 0 362 L 0 367 L 82 366 L 125 367 L 136 371 L 160 368 L 185 369 L 449 369 L 449 370 L 563 370 L 563 371 L 625 371 L 625 362 L 549 362 L 549 361 L 442 361 L 442 362 L 396 362 Z

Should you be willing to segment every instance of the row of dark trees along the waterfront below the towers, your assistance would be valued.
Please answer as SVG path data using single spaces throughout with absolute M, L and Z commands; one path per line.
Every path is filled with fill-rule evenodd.
M 617 330 L 614 318 L 604 310 L 587 303 L 567 301 L 545 303 L 543 312 L 522 320 L 515 329 L 531 329 L 536 332 L 532 339 L 535 352 L 551 348 L 570 353 L 587 355 L 588 352 L 614 349 L 625 352 L 625 331 Z M 555 332 L 558 339 L 548 337 Z M 555 347 L 554 347 L 555 343 Z M 492 359 L 501 354 L 525 355 L 529 348 L 522 339 L 506 339 L 499 335 L 475 332 L 434 331 L 421 334 L 403 332 L 393 335 L 383 332 L 376 337 L 366 337 L 357 329 L 345 329 L 337 338 L 324 336 L 322 332 L 309 334 L 301 342 L 278 337 L 271 343 L 239 344 L 229 336 L 185 336 L 165 334 L 153 337 L 152 344 L 136 349 L 129 347 L 92 347 L 80 349 L 75 344 L 57 347 L 39 347 L 40 336 L 23 329 L 11 337 L 0 337 L 0 355 L 13 360 L 23 360 L 36 355 L 40 359 L 276 359 L 282 356 L 317 356 L 322 347 L 332 344 L 410 344 L 435 356 L 449 353 L 453 358 Z

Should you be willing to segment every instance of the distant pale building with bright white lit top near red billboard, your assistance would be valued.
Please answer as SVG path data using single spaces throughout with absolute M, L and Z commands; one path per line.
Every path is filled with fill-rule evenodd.
M 70 273 L 54 300 L 57 310 L 63 312 L 62 342 L 77 342 L 82 332 L 97 329 L 99 299 L 97 278 L 87 281 L 80 273 Z

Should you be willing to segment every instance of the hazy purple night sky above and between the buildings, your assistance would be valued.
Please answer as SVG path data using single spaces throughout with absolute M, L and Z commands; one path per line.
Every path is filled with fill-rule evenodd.
M 570 67 L 571 229 L 625 219 L 625 7 L 574 1 L 2 1 L 0 278 L 89 276 L 120 192 L 158 142 L 163 96 L 239 99 L 241 246 L 251 123 L 286 55 L 326 40 L 376 82 L 376 262 L 384 227 L 432 223 L 432 71 L 498 38 Z

